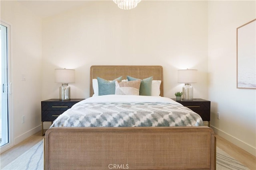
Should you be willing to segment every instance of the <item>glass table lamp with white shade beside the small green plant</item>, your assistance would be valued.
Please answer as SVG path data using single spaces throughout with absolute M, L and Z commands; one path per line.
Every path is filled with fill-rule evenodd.
M 193 100 L 193 87 L 191 83 L 196 83 L 197 70 L 178 70 L 178 83 L 184 83 L 182 87 L 182 100 Z

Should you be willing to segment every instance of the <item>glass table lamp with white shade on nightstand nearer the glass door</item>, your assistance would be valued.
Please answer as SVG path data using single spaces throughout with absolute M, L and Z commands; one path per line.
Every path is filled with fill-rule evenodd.
M 70 100 L 70 86 L 68 83 L 75 82 L 75 70 L 55 69 L 55 82 L 62 83 L 60 86 L 60 100 Z

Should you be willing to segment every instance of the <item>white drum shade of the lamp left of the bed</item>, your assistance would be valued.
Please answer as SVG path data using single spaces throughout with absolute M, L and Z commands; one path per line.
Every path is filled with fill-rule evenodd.
M 72 69 L 55 69 L 55 82 L 56 83 L 74 83 L 75 70 Z

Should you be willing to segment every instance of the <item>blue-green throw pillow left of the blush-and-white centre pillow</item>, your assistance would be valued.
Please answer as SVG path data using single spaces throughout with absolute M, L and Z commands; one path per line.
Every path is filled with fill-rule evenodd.
M 122 81 L 122 76 L 116 78 L 112 82 L 105 80 L 103 78 L 97 77 L 98 80 L 98 88 L 99 88 L 99 96 L 115 94 L 116 91 L 116 80 Z

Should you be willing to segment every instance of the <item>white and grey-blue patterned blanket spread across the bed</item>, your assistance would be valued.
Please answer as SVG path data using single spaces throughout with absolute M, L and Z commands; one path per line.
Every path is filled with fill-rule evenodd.
M 62 113 L 51 127 L 203 126 L 187 107 L 169 103 L 110 102 L 78 104 Z

